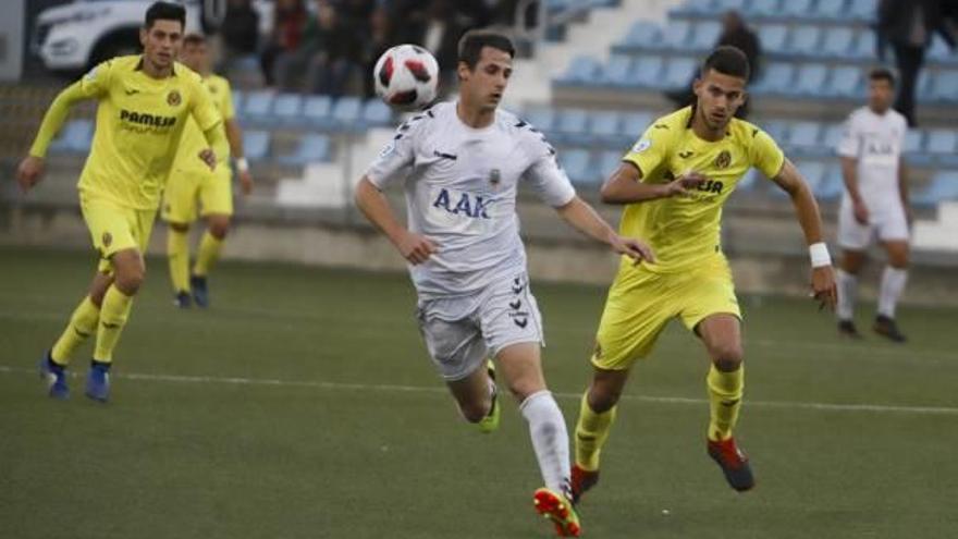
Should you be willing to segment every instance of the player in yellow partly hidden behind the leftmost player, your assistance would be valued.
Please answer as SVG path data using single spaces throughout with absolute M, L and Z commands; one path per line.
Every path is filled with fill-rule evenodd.
M 230 155 L 236 159 L 236 171 L 245 195 L 253 191 L 253 175 L 243 157 L 243 132 L 233 111 L 230 82 L 210 73 L 206 39 L 199 34 L 189 34 L 183 38 L 180 61 L 202 76 L 204 85 L 223 117 L 222 128 L 225 130 L 225 138 L 229 140 L 229 144 L 213 148 L 220 162 L 211 172 L 196 160 L 196 152 L 206 146 L 202 132 L 196 122 L 187 121 L 160 210 L 160 216 L 169 225 L 167 256 L 170 279 L 173 282 L 173 303 L 181 308 L 189 307 L 192 293 L 196 305 L 206 307 L 209 303 L 207 274 L 219 259 L 233 215 Z M 196 221 L 197 201 L 202 208 L 207 230 L 199 242 L 196 264 L 191 274 L 188 232 L 189 225 Z

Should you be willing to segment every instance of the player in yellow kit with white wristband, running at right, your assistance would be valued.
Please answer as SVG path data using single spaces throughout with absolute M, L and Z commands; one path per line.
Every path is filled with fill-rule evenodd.
M 656 120 L 602 186 L 603 201 L 626 205 L 619 233 L 648 240 L 655 260 L 623 259 L 609 291 L 576 426 L 576 499 L 599 479 L 599 454 L 630 368 L 673 318 L 695 332 L 711 359 L 708 453 L 734 489 L 754 485 L 732 437 L 744 388 L 741 315 L 718 233 L 722 206 L 750 168 L 791 197 L 810 246 L 812 293 L 834 308 L 835 278 L 811 191 L 765 132 L 734 118 L 748 76 L 740 50 L 716 48 L 693 83 L 696 105 Z

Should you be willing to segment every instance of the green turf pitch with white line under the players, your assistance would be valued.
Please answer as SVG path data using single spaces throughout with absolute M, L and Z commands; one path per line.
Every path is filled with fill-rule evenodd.
M 150 264 L 113 401 L 81 396 L 81 377 L 63 403 L 42 396 L 33 368 L 93 260 L 0 249 L 0 537 L 552 535 L 531 510 L 539 477 L 515 406 L 489 437 L 458 419 L 404 275 L 223 265 L 214 307 L 176 311 L 163 261 Z M 604 291 L 535 290 L 546 376 L 572 424 Z M 853 344 L 811 303 L 742 299 L 739 437 L 758 489 L 733 492 L 705 456 L 707 362 L 676 323 L 627 390 L 581 506 L 586 535 L 958 537 L 956 313 L 904 308 L 910 344 Z

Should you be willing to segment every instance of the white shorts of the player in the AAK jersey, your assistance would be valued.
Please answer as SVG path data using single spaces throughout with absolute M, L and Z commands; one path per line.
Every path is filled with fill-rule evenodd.
M 525 273 L 477 294 L 421 299 L 416 318 L 432 363 L 449 382 L 468 377 L 511 344 L 545 344 Z

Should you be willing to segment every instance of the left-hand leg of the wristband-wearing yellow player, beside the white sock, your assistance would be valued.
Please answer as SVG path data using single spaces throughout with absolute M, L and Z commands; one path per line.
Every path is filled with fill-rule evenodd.
M 622 396 L 628 370 L 594 369 L 589 390 L 582 395 L 576 421 L 576 458 L 572 469 L 573 500 L 599 482 L 599 457 L 615 421 L 615 406 Z

